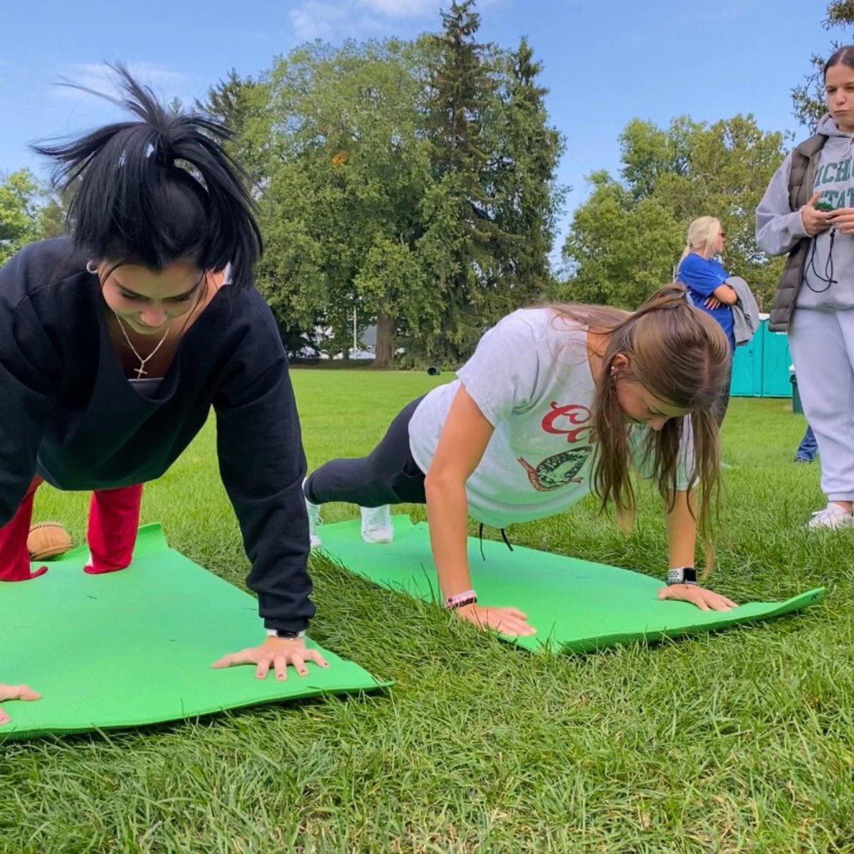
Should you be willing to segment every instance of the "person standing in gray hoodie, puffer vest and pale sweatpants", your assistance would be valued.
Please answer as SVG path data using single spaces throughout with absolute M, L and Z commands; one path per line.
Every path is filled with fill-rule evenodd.
M 756 237 L 789 254 L 771 324 L 788 330 L 822 460 L 828 504 L 810 528 L 839 529 L 854 527 L 854 45 L 830 57 L 824 83 L 828 114 L 771 179 Z

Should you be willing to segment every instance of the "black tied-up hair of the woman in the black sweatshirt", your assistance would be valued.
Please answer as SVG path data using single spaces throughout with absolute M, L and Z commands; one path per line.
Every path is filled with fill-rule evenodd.
M 192 260 L 249 284 L 262 243 L 243 168 L 225 152 L 232 134 L 218 121 L 176 113 L 126 67 L 112 66 L 125 97 L 78 87 L 137 115 L 67 142 L 37 145 L 56 160 L 54 184 L 71 190 L 75 245 L 97 260 L 162 270 Z

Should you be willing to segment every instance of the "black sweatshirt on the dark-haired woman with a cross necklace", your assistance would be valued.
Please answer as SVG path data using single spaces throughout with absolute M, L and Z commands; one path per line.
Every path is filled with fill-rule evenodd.
M 254 287 L 221 288 L 147 399 L 121 370 L 104 305 L 66 237 L 33 243 L 0 269 L 0 526 L 37 471 L 60 489 L 160 477 L 213 406 L 219 473 L 260 616 L 268 629 L 305 629 L 314 613 L 306 459 L 269 307 Z

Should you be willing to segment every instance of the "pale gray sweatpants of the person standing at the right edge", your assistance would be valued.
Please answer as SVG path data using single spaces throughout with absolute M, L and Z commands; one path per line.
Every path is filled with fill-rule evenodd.
M 822 492 L 854 500 L 854 309 L 796 308 L 789 349 L 804 416 L 816 434 Z

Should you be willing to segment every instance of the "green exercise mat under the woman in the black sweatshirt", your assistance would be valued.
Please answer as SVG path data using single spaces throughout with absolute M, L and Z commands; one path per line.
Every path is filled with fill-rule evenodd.
M 139 530 L 133 563 L 82 571 L 85 547 L 26 582 L 0 583 L 0 681 L 25 683 L 34 702 L 7 700 L 0 740 L 174 721 L 276 700 L 383 684 L 321 650 L 307 664 L 261 681 L 254 665 L 212 670 L 229 652 L 263 640 L 258 605 L 167 546 L 160 525 Z M 314 645 L 316 646 L 316 645 Z

